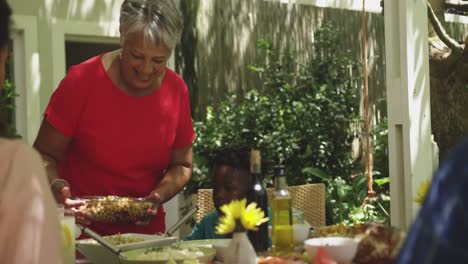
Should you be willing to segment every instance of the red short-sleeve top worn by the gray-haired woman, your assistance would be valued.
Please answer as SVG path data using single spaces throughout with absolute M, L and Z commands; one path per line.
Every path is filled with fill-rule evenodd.
M 171 151 L 195 139 L 188 89 L 172 70 L 152 94 L 132 97 L 110 80 L 102 55 L 73 66 L 53 93 L 46 120 L 72 141 L 59 164 L 75 196 L 144 197 L 161 181 Z M 164 212 L 148 227 L 92 226 L 101 234 L 164 232 Z

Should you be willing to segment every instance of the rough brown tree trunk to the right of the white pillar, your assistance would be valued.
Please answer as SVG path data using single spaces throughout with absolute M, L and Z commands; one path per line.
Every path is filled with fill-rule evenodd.
M 445 21 L 440 19 L 444 18 L 444 0 L 429 2 L 443 24 Z M 433 24 L 430 23 L 430 31 L 434 30 Z M 440 160 L 447 156 L 468 131 L 468 52 L 461 45 L 457 47 L 457 43 L 455 46 L 451 45 L 452 49 L 449 48 L 450 43 L 441 40 L 441 34 L 444 33 L 443 30 L 442 33 L 438 32 L 438 37 L 429 41 L 431 123 L 434 139 L 440 149 Z M 468 38 L 465 42 L 467 40 Z

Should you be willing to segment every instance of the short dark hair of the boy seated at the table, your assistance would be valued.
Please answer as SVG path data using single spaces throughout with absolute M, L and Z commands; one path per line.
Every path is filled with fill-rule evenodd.
M 227 165 L 250 171 L 250 149 L 244 146 L 228 146 L 214 155 L 212 165 Z

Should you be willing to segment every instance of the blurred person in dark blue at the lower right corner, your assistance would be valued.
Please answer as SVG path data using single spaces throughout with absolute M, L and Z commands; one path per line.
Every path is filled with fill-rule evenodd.
M 395 263 L 468 263 L 468 141 L 438 169 Z

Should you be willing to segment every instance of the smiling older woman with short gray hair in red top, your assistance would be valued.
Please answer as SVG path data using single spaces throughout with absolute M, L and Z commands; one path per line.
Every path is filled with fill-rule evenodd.
M 165 231 L 162 204 L 192 175 L 192 126 L 186 84 L 167 68 L 182 32 L 171 0 L 125 0 L 119 50 L 73 66 L 53 93 L 34 147 L 57 201 L 73 196 L 144 197 L 153 217 L 102 224 L 77 212 L 101 235 Z

